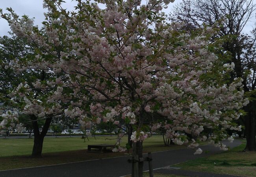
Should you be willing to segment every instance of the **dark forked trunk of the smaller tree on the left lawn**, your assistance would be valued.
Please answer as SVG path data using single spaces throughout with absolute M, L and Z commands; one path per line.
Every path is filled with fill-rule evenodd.
M 43 126 L 41 133 L 39 132 L 39 127 L 38 127 L 36 119 L 37 119 L 37 117 L 33 115 L 32 120 L 35 120 L 34 122 L 32 122 L 33 131 L 34 131 L 34 146 L 33 146 L 31 156 L 32 157 L 42 157 L 43 141 L 44 141 L 45 135 L 48 131 L 48 128 L 50 127 L 52 118 L 46 118 L 45 124 Z

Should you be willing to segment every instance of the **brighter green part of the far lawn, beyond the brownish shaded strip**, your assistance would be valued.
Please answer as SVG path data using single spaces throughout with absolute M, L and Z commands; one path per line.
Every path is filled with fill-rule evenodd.
M 107 139 L 106 139 L 107 138 Z M 89 137 L 89 141 L 85 142 L 80 137 L 63 137 L 63 138 L 45 138 L 43 143 L 43 153 L 74 151 L 87 149 L 88 144 L 115 144 L 116 136 L 96 136 Z M 127 136 L 121 142 L 125 146 Z M 145 152 L 165 151 L 171 149 L 180 149 L 185 146 L 164 146 L 161 136 L 152 136 L 143 142 L 143 150 Z M 0 157 L 31 155 L 33 148 L 33 139 L 29 138 L 9 138 L 0 139 Z

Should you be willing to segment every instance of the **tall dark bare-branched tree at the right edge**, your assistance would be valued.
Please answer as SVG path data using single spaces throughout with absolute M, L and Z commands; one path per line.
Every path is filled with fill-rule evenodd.
M 247 144 L 245 151 L 256 151 L 256 55 L 255 30 L 243 34 L 245 26 L 255 14 L 253 0 L 183 0 L 174 7 L 171 19 L 184 22 L 186 30 L 201 28 L 204 25 L 219 26 L 216 37 L 225 39 L 223 52 L 230 54 L 226 63 L 235 64 L 231 79 L 243 78 L 243 88 L 250 103 L 244 107 L 243 117 Z M 214 40 L 214 38 L 213 38 Z

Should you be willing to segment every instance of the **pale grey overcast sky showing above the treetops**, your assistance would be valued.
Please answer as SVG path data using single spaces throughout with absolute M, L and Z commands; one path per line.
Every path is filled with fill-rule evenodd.
M 76 1 L 72 0 L 65 0 L 67 3 L 63 4 L 63 7 L 68 8 L 69 10 L 73 10 L 74 6 L 76 5 Z M 169 5 L 168 11 L 171 11 L 171 8 L 174 4 L 181 2 L 182 0 L 175 0 L 174 3 Z M 256 0 L 254 0 L 256 2 Z M 45 19 L 43 13 L 46 9 L 43 9 L 43 0 L 1 0 L 0 8 L 3 9 L 4 12 L 6 11 L 6 7 L 11 7 L 18 15 L 28 15 L 30 18 L 35 17 L 34 24 L 41 25 L 41 22 Z M 245 26 L 245 33 L 249 33 L 252 29 L 252 26 L 256 22 L 255 17 L 250 19 L 250 22 Z M 8 31 L 10 28 L 8 23 L 5 19 L 0 18 L 0 36 L 8 35 Z

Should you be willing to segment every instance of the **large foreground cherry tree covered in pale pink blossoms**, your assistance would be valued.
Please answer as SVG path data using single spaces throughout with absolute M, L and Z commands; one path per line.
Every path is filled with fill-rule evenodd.
M 214 29 L 188 33 L 180 30 L 182 24 L 167 22 L 161 10 L 170 2 L 78 0 L 76 11 L 69 12 L 61 7 L 62 0 L 45 0 L 45 33 L 39 33 L 31 19 L 19 18 L 9 9 L 10 14 L 2 16 L 13 33 L 38 45 L 37 57 L 30 64 L 57 77 L 33 85 L 41 89 L 44 101 L 37 101 L 38 96 L 33 104 L 27 101 L 23 112 L 43 117 L 49 111 L 63 111 L 86 127 L 100 120 L 119 125 L 122 118 L 132 127 L 130 140 L 139 158 L 150 127 L 164 126 L 175 144 L 190 142 L 190 148 L 197 147 L 197 142 L 176 131 L 206 140 L 200 135 L 204 127 L 210 127 L 215 132 L 211 141 L 226 149 L 220 140 L 227 128 L 241 129 L 232 120 L 239 118 L 239 109 L 248 102 L 243 99 L 242 79 L 226 81 L 234 64 L 223 65 L 214 54 L 220 47 L 209 42 Z M 47 91 L 49 86 L 54 93 Z M 34 90 L 20 87 L 26 94 Z M 26 94 L 21 94 L 24 101 Z M 58 106 L 50 104 L 51 100 Z M 119 146 L 113 151 L 125 149 Z M 195 151 L 199 153 L 200 148 Z M 140 161 L 139 176 L 142 168 Z

